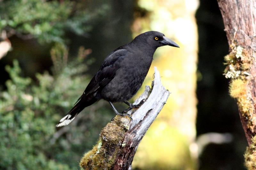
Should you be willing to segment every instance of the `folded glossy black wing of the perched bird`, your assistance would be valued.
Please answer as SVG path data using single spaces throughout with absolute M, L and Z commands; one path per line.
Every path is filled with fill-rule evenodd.
M 84 90 L 82 96 L 78 98 L 76 103 L 84 96 L 92 95 L 99 89 L 105 87 L 116 75 L 116 71 L 120 68 L 119 63 L 124 60 L 128 50 L 119 47 L 110 53 L 100 66 L 99 71 L 93 76 L 88 86 Z M 75 103 L 75 104 L 76 104 Z

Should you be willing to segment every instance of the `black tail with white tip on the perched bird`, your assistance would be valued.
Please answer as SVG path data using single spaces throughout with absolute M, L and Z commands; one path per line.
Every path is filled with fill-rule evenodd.
M 90 106 L 97 101 L 98 100 L 95 98 L 92 98 L 89 101 L 84 101 L 83 98 L 81 98 L 81 100 L 75 104 L 68 114 L 60 119 L 60 122 L 56 125 L 56 127 L 68 125 L 85 107 Z

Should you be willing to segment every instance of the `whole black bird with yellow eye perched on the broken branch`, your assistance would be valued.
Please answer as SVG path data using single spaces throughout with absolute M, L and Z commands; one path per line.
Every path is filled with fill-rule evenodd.
M 100 99 L 108 101 L 116 114 L 120 113 L 112 104 L 114 102 L 124 102 L 129 105 L 129 108 L 138 107 L 129 103 L 128 100 L 140 89 L 156 48 L 166 45 L 179 47 L 163 33 L 148 31 L 114 50 L 105 58 L 75 106 L 56 126 L 69 124 L 85 107 Z

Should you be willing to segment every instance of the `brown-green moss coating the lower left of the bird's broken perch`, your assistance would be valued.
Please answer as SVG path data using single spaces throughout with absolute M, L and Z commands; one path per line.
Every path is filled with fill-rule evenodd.
M 119 153 L 122 151 L 122 141 L 129 130 L 130 118 L 116 116 L 100 132 L 100 139 L 91 151 L 84 154 L 80 161 L 81 168 L 111 169 Z

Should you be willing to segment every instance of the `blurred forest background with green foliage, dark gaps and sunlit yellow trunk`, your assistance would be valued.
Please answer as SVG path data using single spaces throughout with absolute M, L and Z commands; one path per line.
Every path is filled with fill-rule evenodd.
M 157 49 L 132 99 L 156 66 L 172 93 L 133 168 L 245 169 L 247 142 L 222 75 L 228 42 L 215 0 L 0 0 L 0 169 L 79 169 L 114 112 L 99 101 L 68 126 L 55 124 L 110 52 L 150 30 L 180 48 Z

